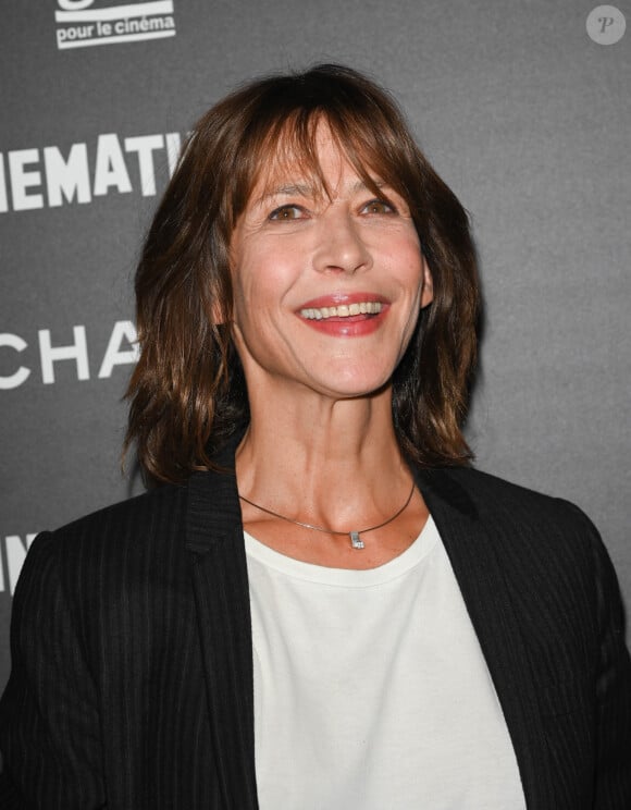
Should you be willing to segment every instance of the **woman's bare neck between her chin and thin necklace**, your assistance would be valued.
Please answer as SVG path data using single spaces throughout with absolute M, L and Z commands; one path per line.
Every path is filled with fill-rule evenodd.
M 358 515 L 378 523 L 400 505 L 411 483 L 389 389 L 334 402 L 293 396 L 267 398 L 264 407 L 255 403 L 236 464 L 243 495 L 325 526 L 356 524 Z

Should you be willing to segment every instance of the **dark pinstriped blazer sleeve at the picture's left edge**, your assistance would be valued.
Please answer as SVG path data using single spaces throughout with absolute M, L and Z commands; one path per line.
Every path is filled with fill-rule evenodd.
M 55 536 L 39 535 L 15 589 L 12 671 L 0 701 L 0 807 L 107 807 L 97 689 L 59 556 Z

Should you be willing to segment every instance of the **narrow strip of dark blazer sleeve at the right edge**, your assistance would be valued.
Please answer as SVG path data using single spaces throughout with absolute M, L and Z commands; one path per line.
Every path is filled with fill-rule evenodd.
M 599 633 L 596 678 L 597 762 L 595 810 L 631 808 L 631 661 L 618 580 L 597 530 L 590 523 Z

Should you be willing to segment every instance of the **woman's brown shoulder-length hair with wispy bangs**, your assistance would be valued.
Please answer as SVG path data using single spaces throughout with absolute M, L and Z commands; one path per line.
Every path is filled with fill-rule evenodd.
M 248 421 L 230 328 L 230 241 L 270 165 L 290 156 L 322 180 L 314 135 L 323 120 L 367 185 L 376 192 L 376 174 L 406 199 L 432 273 L 433 303 L 393 378 L 401 450 L 425 466 L 470 458 L 461 424 L 479 294 L 467 214 L 391 96 L 356 71 L 322 64 L 256 81 L 209 110 L 158 208 L 136 273 L 140 359 L 125 439 L 154 482 L 212 467 L 216 446 Z

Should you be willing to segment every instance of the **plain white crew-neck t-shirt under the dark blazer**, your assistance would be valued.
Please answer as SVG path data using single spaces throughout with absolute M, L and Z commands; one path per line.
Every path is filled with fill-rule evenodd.
M 432 518 L 403 554 L 368 570 L 245 539 L 261 810 L 525 807 Z

